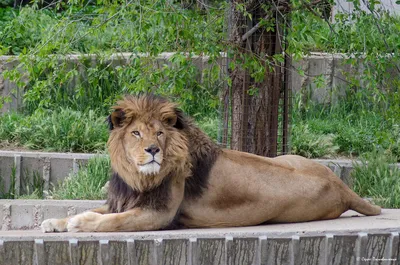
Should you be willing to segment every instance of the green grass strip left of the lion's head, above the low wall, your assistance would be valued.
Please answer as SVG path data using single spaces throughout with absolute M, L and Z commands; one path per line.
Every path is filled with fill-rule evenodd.
M 31 149 L 97 152 L 105 150 L 107 138 L 105 117 L 95 111 L 38 110 L 27 117 L 0 117 L 0 139 Z

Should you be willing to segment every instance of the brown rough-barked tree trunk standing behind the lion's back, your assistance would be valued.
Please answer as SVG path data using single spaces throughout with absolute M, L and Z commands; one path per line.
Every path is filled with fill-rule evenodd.
M 263 156 L 276 156 L 283 67 L 271 66 L 271 58 L 275 54 L 282 54 L 284 25 L 279 11 L 269 10 L 267 16 L 260 5 L 250 9 L 250 2 L 233 0 L 230 7 L 229 41 L 234 47 L 232 60 L 241 62 L 229 72 L 232 81 L 231 148 Z M 239 11 L 237 4 L 246 6 L 252 19 L 245 16 L 242 10 Z M 273 31 L 267 31 L 262 26 L 257 28 L 257 23 L 266 17 L 274 19 Z M 243 40 L 243 35 L 252 31 Z M 259 58 L 262 62 L 265 68 L 262 81 L 256 82 L 251 77 L 251 70 L 243 67 L 242 62 L 246 56 Z

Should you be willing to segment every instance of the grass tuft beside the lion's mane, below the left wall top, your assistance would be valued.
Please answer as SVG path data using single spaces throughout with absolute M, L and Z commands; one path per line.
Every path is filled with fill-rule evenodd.
M 108 156 L 93 157 L 84 168 L 68 176 L 51 194 L 54 199 L 63 200 L 105 199 L 102 187 L 109 179 L 110 171 Z

